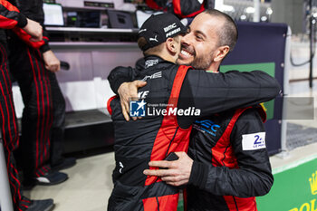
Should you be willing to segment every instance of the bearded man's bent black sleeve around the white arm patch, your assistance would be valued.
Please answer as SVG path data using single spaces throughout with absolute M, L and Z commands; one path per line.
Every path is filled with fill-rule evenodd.
M 194 161 L 188 185 L 217 196 L 258 197 L 269 192 L 273 185 L 267 150 L 243 148 L 243 136 L 264 132 L 264 124 L 255 110 L 246 110 L 235 122 L 231 144 L 238 168 L 213 167 Z

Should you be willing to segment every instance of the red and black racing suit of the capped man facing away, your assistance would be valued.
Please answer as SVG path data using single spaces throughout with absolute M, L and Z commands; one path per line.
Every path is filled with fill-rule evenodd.
M 146 81 L 147 85 L 139 89 L 139 98 L 147 103 L 148 110 L 195 108 L 201 110 L 200 117 L 268 101 L 280 89 L 264 72 L 210 73 L 157 56 L 146 57 L 145 69 L 140 72 L 120 67 L 110 72 L 108 79 L 113 91 L 121 82 Z M 191 125 L 199 117 L 148 113 L 141 120 L 127 122 L 118 97 L 111 98 L 107 108 L 115 129 L 116 160 L 108 210 L 177 210 L 178 187 L 168 186 L 158 177 L 147 177 L 143 170 L 149 168 L 149 160 L 164 159 L 173 151 L 187 151 Z

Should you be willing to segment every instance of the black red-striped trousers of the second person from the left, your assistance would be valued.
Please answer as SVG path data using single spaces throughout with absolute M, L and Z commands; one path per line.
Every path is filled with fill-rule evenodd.
M 62 159 L 65 101 L 55 73 L 45 69 L 39 50 L 14 35 L 8 46 L 10 69 L 24 101 L 18 163 L 24 177 L 41 177 L 50 171 L 51 163 Z

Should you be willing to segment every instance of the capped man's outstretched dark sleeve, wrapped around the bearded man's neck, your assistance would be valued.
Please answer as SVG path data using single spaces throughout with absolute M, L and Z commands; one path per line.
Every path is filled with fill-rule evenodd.
M 179 94 L 178 108 L 195 107 L 200 110 L 199 118 L 202 118 L 270 101 L 280 90 L 279 83 L 262 71 L 215 73 L 188 70 Z M 187 128 L 193 120 L 195 118 L 178 118 L 178 124 Z

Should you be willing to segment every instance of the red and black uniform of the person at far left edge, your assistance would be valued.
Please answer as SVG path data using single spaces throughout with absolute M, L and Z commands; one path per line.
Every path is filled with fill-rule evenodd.
M 27 20 L 24 14 L 9 2 L 0 0 L 0 129 L 4 141 L 6 167 L 13 197 L 14 210 L 25 210 L 31 201 L 22 196 L 18 172 L 15 168 L 14 149 L 19 145 L 19 130 L 14 111 L 12 83 L 9 77 L 5 29 L 24 27 Z

